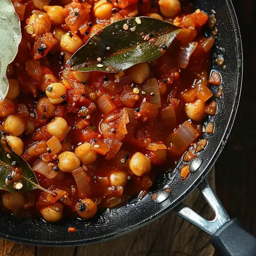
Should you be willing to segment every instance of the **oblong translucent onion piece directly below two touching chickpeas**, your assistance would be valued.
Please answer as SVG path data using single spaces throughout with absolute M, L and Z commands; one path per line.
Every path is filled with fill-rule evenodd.
M 72 175 L 77 183 L 79 196 L 85 197 L 90 194 L 90 180 L 82 167 L 72 171 Z

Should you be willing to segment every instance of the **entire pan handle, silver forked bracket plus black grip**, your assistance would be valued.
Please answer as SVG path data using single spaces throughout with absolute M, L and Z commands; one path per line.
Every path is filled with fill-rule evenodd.
M 229 218 L 209 182 L 204 179 L 198 189 L 214 211 L 214 219 L 204 219 L 184 203 L 178 204 L 173 212 L 212 235 L 212 245 L 223 256 L 256 256 L 256 238 L 237 219 Z

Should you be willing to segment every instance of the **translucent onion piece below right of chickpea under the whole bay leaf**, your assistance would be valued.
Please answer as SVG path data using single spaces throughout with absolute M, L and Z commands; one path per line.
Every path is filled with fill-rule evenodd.
M 161 98 L 156 78 L 148 79 L 143 86 L 143 90 L 150 95 L 150 99 L 148 100 L 148 102 L 160 108 Z

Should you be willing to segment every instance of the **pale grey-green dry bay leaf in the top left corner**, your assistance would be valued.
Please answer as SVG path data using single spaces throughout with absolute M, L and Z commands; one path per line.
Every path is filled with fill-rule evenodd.
M 18 52 L 21 25 L 11 0 L 0 0 L 0 101 L 4 100 L 9 84 L 6 70 Z

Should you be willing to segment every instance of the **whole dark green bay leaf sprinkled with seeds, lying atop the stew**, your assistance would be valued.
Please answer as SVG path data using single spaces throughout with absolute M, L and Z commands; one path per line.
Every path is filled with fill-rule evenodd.
M 71 56 L 67 68 L 115 73 L 160 57 L 181 29 L 150 17 L 115 21 Z

